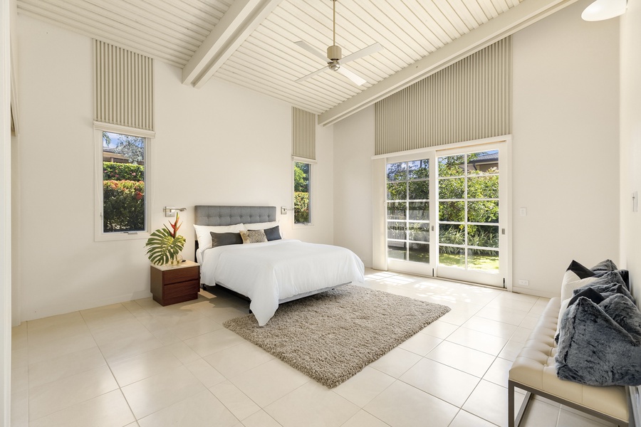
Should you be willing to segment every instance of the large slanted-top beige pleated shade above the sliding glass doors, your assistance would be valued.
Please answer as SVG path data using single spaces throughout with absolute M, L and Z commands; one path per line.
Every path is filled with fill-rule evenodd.
M 375 105 L 376 154 L 511 133 L 507 37 Z

